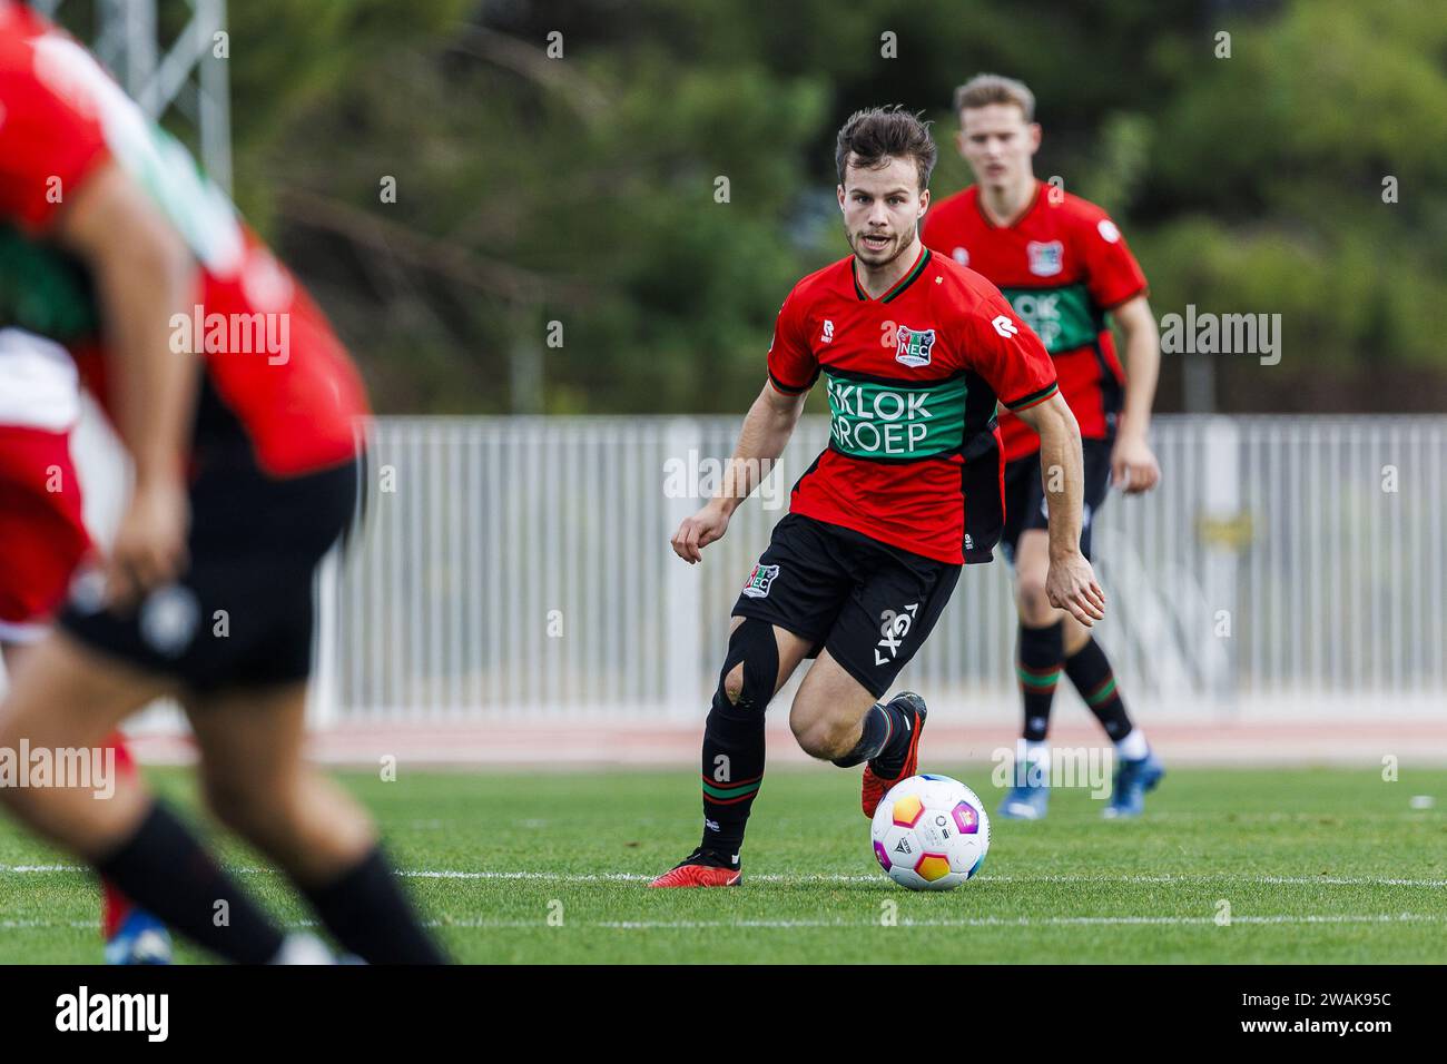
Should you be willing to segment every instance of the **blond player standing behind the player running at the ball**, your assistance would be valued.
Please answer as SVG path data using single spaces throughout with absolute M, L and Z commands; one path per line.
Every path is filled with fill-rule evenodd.
M 1081 552 L 1091 554 L 1091 524 L 1111 484 L 1150 491 L 1160 468 L 1146 443 L 1160 368 L 1160 342 L 1146 303 L 1146 278 L 1106 211 L 1036 180 L 1040 146 L 1035 97 L 1022 83 L 981 74 L 955 93 L 959 152 L 975 184 L 935 204 L 926 246 L 1000 285 L 1014 311 L 1040 336 L 1079 423 L 1085 455 Z M 1116 356 L 1108 317 L 1126 337 L 1129 378 Z M 1064 670 L 1116 744 L 1117 773 L 1107 816 L 1142 812 L 1160 776 L 1159 760 L 1126 714 L 1116 676 L 1085 625 L 1046 595 L 1051 514 L 1036 473 L 1036 437 L 1010 411 L 1000 414 L 1006 457 L 1003 546 L 1014 563 L 1020 615 L 1017 675 L 1024 735 L 1016 786 L 1000 815 L 1039 819 L 1049 798 L 1045 743 L 1055 685 Z

